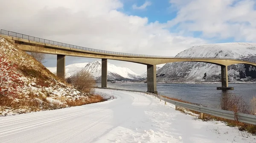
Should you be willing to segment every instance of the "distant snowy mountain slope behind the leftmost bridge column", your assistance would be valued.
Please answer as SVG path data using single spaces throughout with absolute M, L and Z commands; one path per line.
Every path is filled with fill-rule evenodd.
M 65 67 L 66 77 L 70 77 L 74 73 L 76 73 L 77 71 L 80 71 L 80 70 L 84 69 L 84 67 L 87 64 L 88 64 L 87 62 L 84 62 L 84 63 L 76 63 L 76 64 L 69 64 L 69 65 L 67 65 Z M 56 71 L 57 71 L 57 67 L 47 67 L 47 69 L 49 71 L 51 71 L 52 73 L 56 73 Z

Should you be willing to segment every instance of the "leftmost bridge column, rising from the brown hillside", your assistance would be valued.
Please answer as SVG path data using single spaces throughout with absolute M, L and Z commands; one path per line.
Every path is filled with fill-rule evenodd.
M 66 55 L 57 55 L 57 76 L 65 78 L 65 57 Z

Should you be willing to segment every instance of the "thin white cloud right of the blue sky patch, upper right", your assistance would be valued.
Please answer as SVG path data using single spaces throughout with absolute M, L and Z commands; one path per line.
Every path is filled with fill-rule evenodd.
M 255 0 L 170 0 L 177 17 L 169 26 L 178 25 L 185 33 L 201 31 L 204 38 L 256 40 Z

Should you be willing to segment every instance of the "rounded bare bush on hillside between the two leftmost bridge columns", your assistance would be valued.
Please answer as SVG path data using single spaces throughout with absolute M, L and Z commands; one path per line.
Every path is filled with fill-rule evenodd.
M 93 87 L 96 84 L 93 76 L 85 70 L 76 72 L 69 80 L 76 88 L 86 93 L 93 92 Z

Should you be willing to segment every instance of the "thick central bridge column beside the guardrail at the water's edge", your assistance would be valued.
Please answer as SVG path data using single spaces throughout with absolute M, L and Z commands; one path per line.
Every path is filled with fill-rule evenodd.
M 147 65 L 148 93 L 157 94 L 157 65 Z

